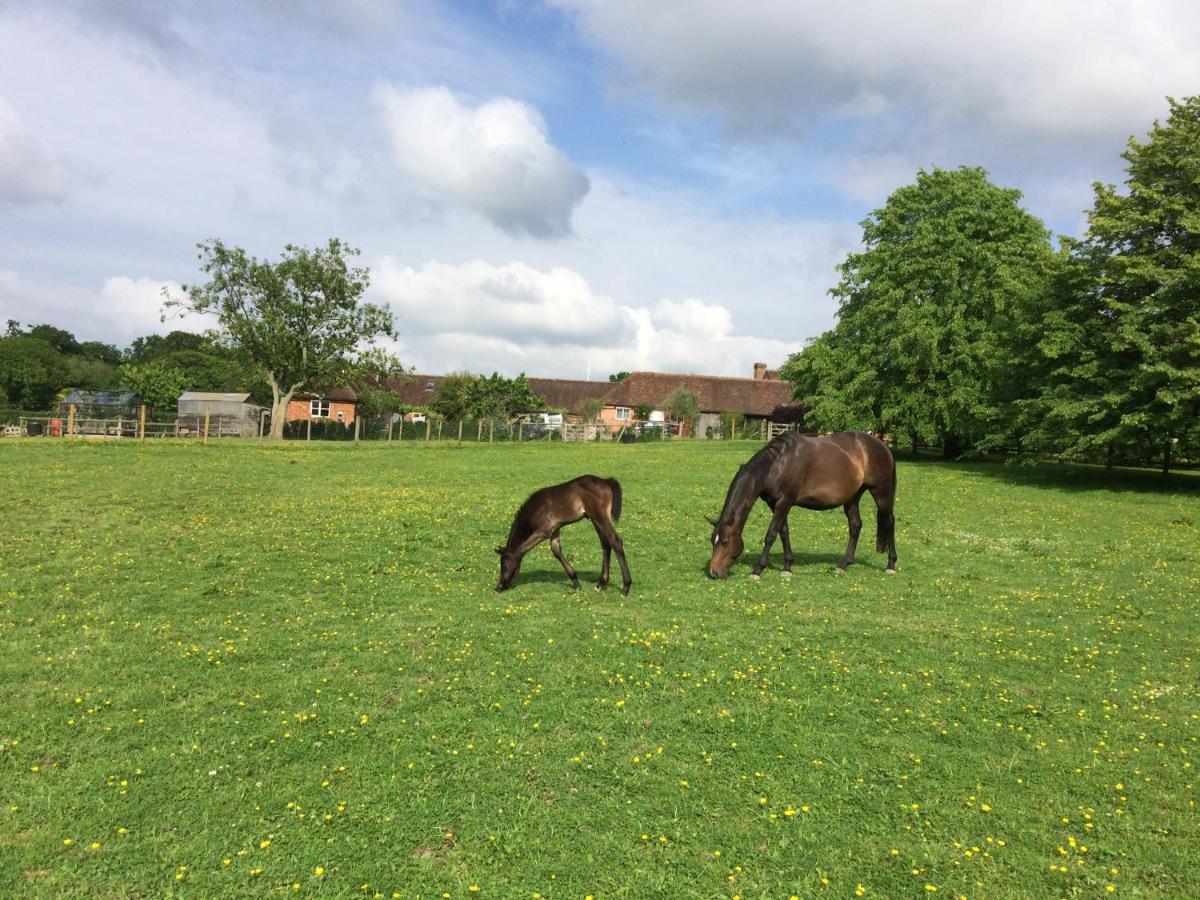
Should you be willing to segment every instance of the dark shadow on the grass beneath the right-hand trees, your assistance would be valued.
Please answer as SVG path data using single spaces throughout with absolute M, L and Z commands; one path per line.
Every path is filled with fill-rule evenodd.
M 896 452 L 904 466 L 944 467 L 958 472 L 985 475 L 1025 487 L 1060 491 L 1124 491 L 1130 493 L 1200 494 L 1200 472 L 1172 472 L 1164 478 L 1157 469 L 1115 466 L 1090 466 L 1054 460 L 974 458 L 943 460 L 922 454 Z

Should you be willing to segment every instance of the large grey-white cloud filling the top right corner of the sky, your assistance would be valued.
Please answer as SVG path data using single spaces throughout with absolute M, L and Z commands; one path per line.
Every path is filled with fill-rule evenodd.
M 1123 140 L 1200 83 L 1192 0 L 552 0 L 667 106 L 743 136 L 896 115 L 992 138 Z

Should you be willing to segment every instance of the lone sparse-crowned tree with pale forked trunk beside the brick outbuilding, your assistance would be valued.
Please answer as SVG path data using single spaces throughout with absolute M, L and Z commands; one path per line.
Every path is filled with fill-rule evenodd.
M 216 316 L 222 340 L 262 370 L 272 438 L 283 437 L 293 394 L 344 383 L 360 344 L 394 334 L 391 313 L 362 301 L 368 272 L 349 259 L 359 251 L 336 238 L 316 250 L 289 244 L 276 263 L 220 240 L 198 246 L 208 282 L 178 298 L 164 290 L 164 305 Z

